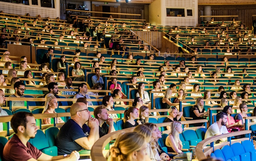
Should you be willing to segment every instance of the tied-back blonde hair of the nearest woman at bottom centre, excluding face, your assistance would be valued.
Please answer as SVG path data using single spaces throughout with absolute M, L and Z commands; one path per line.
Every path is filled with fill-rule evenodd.
M 139 133 L 122 133 L 110 149 L 110 161 L 132 161 L 132 153 L 141 150 L 145 142 L 145 137 Z

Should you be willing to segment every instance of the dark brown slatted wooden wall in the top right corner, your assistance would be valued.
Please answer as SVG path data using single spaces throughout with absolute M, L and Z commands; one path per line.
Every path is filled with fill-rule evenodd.
M 227 16 L 227 15 L 238 15 L 237 20 L 242 21 L 246 27 L 252 29 L 252 21 L 256 19 L 256 17 L 252 18 L 252 15 L 256 15 L 255 10 L 256 5 L 222 5 L 222 6 L 211 6 L 212 15 L 214 16 Z M 198 16 L 201 16 L 201 12 L 203 13 L 204 6 L 198 6 Z M 216 17 L 216 21 L 230 21 L 232 17 Z M 200 18 L 198 19 L 198 23 L 200 23 Z

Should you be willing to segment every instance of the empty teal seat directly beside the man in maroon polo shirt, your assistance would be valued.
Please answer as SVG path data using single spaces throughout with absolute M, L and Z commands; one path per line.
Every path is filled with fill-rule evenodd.
M 56 146 L 49 146 L 48 140 L 46 139 L 42 130 L 37 130 L 36 136 L 33 139 L 29 139 L 29 142 L 43 153 L 50 156 L 57 156 L 58 149 Z

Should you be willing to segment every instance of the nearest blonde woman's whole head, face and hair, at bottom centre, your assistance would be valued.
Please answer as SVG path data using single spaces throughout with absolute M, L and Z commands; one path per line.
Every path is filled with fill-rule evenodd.
M 110 149 L 110 161 L 148 161 L 147 142 L 143 135 L 128 132 L 119 135 Z

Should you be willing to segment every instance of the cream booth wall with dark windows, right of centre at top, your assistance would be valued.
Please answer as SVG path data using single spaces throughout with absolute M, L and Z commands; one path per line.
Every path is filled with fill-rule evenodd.
M 167 17 L 166 8 L 184 8 L 193 10 L 193 16 Z M 185 15 L 186 16 L 186 15 Z M 149 5 L 149 22 L 162 26 L 196 26 L 198 23 L 197 0 L 154 0 Z

